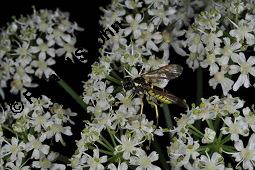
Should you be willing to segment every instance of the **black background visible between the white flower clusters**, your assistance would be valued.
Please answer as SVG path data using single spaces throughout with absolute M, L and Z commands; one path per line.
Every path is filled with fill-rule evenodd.
M 61 11 L 70 13 L 70 20 L 76 21 L 80 27 L 85 28 L 85 31 L 78 32 L 77 35 L 77 47 L 84 47 L 88 50 L 86 57 L 88 63 L 83 64 L 79 61 L 72 63 L 71 61 L 65 61 L 64 59 L 58 60 L 57 64 L 53 67 L 56 73 L 65 80 L 78 94 L 82 95 L 83 83 L 88 79 L 87 75 L 91 72 L 91 64 L 98 59 L 99 53 L 97 49 L 99 44 L 97 39 L 99 37 L 99 30 L 101 29 L 98 22 L 100 15 L 99 7 L 106 6 L 110 1 L 95 0 L 95 1 L 45 1 L 45 0 L 24 0 L 24 1 L 5 1 L 5 4 L 1 4 L 0 7 L 0 27 L 6 25 L 7 22 L 12 21 L 12 16 L 20 16 L 21 14 L 32 14 L 32 6 L 36 9 L 51 9 L 55 10 L 59 8 Z M 171 50 L 172 51 L 172 50 Z M 211 95 L 221 96 L 222 91 L 218 86 L 216 91 L 208 85 L 209 72 L 207 69 L 203 70 L 202 92 L 197 93 L 197 71 L 193 72 L 186 65 L 186 59 L 178 56 L 173 51 L 170 53 L 171 63 L 177 63 L 184 67 L 183 74 L 180 78 L 173 80 L 167 86 L 167 90 L 175 94 L 176 96 L 186 99 L 189 106 L 191 103 L 198 102 L 197 98 L 203 96 L 208 98 Z M 236 79 L 235 79 L 236 80 Z M 80 132 L 84 127 L 83 120 L 89 119 L 89 116 L 83 111 L 83 109 L 55 82 L 41 81 L 40 87 L 31 89 L 34 97 L 39 97 L 42 94 L 47 95 L 53 102 L 58 102 L 64 105 L 65 108 L 71 108 L 72 111 L 77 112 L 78 116 L 73 118 L 76 122 L 72 127 L 74 136 L 66 138 L 68 148 L 63 149 L 61 145 L 56 146 L 56 150 L 61 151 L 67 156 L 71 156 L 75 148 L 75 140 L 79 140 Z M 244 100 L 249 99 L 249 104 L 253 103 L 252 93 L 254 89 L 245 89 L 241 87 L 238 93 L 231 91 L 233 96 L 240 96 Z M 170 105 L 170 111 L 174 116 L 178 116 L 177 113 L 184 110 L 174 105 Z M 148 108 L 147 108 L 148 109 Z M 149 115 L 150 119 L 155 119 L 155 115 Z M 160 115 L 159 125 L 165 127 L 163 115 Z M 64 135 L 63 135 L 64 136 Z M 162 140 L 161 140 L 162 141 Z M 167 141 L 169 144 L 169 141 Z

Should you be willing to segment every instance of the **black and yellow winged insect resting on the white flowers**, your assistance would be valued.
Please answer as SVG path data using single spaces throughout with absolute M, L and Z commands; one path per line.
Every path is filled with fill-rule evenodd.
M 141 74 L 139 77 L 125 77 L 122 85 L 125 90 L 134 90 L 135 93 L 146 94 L 164 104 L 177 104 L 187 108 L 186 102 L 175 95 L 164 90 L 162 84 L 167 84 L 169 80 L 176 79 L 182 74 L 183 68 L 177 64 L 169 64 L 159 69 Z M 129 73 L 130 74 L 130 73 Z M 163 85 L 163 86 L 165 86 Z M 156 88 L 154 88 L 154 86 Z M 155 108 L 157 105 L 155 104 Z M 158 118 L 158 111 L 156 108 Z

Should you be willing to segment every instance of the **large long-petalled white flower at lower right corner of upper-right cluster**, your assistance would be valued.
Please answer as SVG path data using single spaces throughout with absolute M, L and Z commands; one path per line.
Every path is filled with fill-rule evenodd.
M 255 67 L 253 67 L 255 64 L 255 57 L 250 56 L 246 61 L 244 53 L 239 53 L 239 55 L 232 56 L 231 59 L 239 65 L 231 65 L 229 74 L 241 73 L 233 86 L 233 90 L 237 91 L 242 85 L 248 88 L 250 86 L 249 74 L 255 76 Z

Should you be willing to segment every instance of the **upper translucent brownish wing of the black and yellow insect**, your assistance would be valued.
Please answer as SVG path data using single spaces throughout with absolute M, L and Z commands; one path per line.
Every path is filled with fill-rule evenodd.
M 173 80 L 179 77 L 182 74 L 182 71 L 182 66 L 177 64 L 170 64 L 143 74 L 142 77 L 147 82 L 150 82 L 157 87 L 164 88 L 169 80 Z

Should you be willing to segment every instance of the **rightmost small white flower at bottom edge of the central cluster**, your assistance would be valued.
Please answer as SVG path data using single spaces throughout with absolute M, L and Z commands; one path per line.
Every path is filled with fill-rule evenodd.
M 149 156 L 146 155 L 144 150 L 138 150 L 136 156 L 130 158 L 131 165 L 137 165 L 136 170 L 160 170 L 158 166 L 152 164 L 152 162 L 158 160 L 158 154 L 153 151 Z

